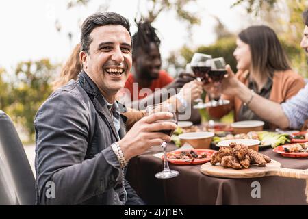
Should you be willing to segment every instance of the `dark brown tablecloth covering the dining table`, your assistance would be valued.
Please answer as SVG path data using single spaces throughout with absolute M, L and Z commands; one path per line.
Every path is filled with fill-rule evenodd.
M 168 145 L 168 151 L 176 149 Z M 129 161 L 127 179 L 138 195 L 149 205 L 307 205 L 305 180 L 284 177 L 260 177 L 252 179 L 224 179 L 209 177 L 200 172 L 201 165 L 175 165 L 170 169 L 179 171 L 172 179 L 156 179 L 162 170 L 162 160 L 154 157 L 159 146 Z M 281 163 L 284 168 L 307 169 L 308 159 L 288 158 L 274 153 L 272 149 L 259 151 Z M 260 183 L 261 197 L 252 198 Z

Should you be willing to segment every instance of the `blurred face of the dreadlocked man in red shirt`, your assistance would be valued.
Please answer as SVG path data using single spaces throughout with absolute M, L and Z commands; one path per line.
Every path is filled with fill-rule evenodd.
M 151 42 L 149 53 L 139 50 L 136 60 L 133 61 L 133 66 L 139 79 L 153 80 L 159 77 L 162 60 L 155 43 Z

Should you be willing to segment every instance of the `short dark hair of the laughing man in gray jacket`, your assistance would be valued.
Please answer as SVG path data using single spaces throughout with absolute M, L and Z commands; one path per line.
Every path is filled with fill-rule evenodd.
M 90 36 L 91 32 L 94 28 L 105 25 L 122 25 L 131 36 L 130 24 L 127 18 L 114 12 L 97 12 L 88 16 L 81 26 L 81 51 L 89 53 L 90 44 L 93 40 Z

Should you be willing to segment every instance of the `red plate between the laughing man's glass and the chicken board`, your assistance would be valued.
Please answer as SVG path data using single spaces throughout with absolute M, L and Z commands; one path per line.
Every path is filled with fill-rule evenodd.
M 209 162 L 211 160 L 211 156 L 216 153 L 217 151 L 214 150 L 210 150 L 210 149 L 186 149 L 186 150 L 181 150 L 181 151 L 174 151 L 171 153 L 174 154 L 179 154 L 182 151 L 194 151 L 196 153 L 206 153 L 207 157 L 203 158 L 203 159 L 169 159 L 167 158 L 168 162 L 172 163 L 172 164 L 180 164 L 180 165 L 185 165 L 185 164 L 203 164 L 206 162 Z M 167 153 L 167 157 L 170 153 Z M 164 159 L 164 155 L 162 156 L 162 159 Z

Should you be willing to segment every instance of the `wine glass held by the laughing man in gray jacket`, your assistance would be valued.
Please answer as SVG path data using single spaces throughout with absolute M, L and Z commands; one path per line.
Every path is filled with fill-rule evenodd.
M 156 105 L 148 105 L 146 107 L 146 114 L 148 116 L 151 114 L 155 114 L 157 112 L 171 112 L 173 114 L 173 118 L 167 121 L 177 124 L 177 115 L 175 114 L 175 110 L 173 110 L 173 107 L 170 103 L 160 103 Z M 162 121 L 157 121 L 156 123 L 159 123 L 159 122 L 162 122 Z M 172 133 L 174 132 L 174 130 L 160 130 L 160 132 L 165 133 L 168 136 L 172 136 Z M 161 146 L 164 152 L 164 170 L 162 170 L 162 172 L 157 172 L 157 174 L 155 174 L 155 177 L 159 179 L 168 179 L 172 177 L 177 177 L 179 175 L 179 172 L 176 170 L 170 170 L 169 165 L 168 165 L 167 142 L 164 140 Z

